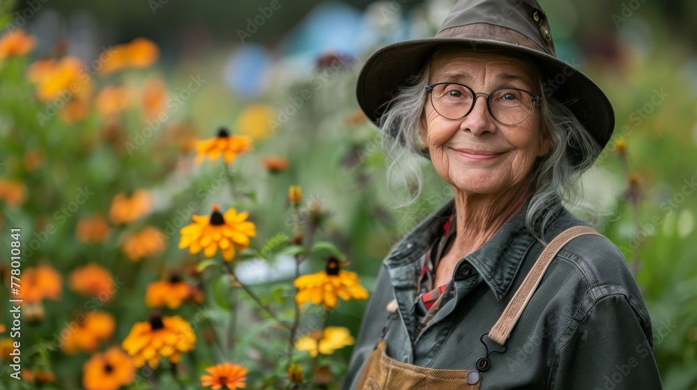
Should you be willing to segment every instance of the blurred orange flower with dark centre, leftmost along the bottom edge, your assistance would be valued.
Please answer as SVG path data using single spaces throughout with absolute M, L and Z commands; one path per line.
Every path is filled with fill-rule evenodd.
M 121 348 L 112 347 L 93 354 L 82 366 L 82 386 L 86 390 L 118 390 L 133 383 L 133 360 Z

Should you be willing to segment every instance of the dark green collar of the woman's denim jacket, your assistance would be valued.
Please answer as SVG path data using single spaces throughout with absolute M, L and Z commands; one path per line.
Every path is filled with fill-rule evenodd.
M 401 274 L 397 268 L 409 265 L 420 258 L 438 235 L 443 234 L 443 224 L 454 210 L 454 198 L 445 203 L 434 214 L 429 215 L 416 228 L 408 233 L 395 249 L 385 259 L 385 266 L 393 276 L 395 286 L 413 283 L 416 275 L 412 272 Z M 461 259 L 454 269 L 455 283 L 473 276 L 474 268 L 482 280 L 491 288 L 498 301 L 503 299 L 519 272 L 523 258 L 536 240 L 526 228 L 525 217 L 528 211 L 528 201 L 512 219 L 491 237 L 482 247 Z M 554 219 L 559 213 L 555 214 Z M 551 225 L 552 221 L 549 221 Z M 401 268 L 402 270 L 413 267 Z

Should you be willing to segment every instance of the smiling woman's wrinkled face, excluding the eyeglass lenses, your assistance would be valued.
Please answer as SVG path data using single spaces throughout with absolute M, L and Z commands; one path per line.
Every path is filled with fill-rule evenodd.
M 501 87 L 537 94 L 533 75 L 530 65 L 521 59 L 448 52 L 434 57 L 429 83 L 453 81 L 487 95 Z M 537 105 L 518 125 L 503 125 L 494 119 L 486 98 L 477 98 L 470 114 L 460 119 L 443 118 L 434 110 L 430 97 L 424 109 L 420 134 L 431 161 L 444 180 L 466 194 L 496 196 L 509 190 L 526 190 L 535 159 L 549 152 Z

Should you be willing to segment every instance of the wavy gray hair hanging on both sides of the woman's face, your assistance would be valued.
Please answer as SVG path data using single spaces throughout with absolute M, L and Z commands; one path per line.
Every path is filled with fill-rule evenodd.
M 397 90 L 378 120 L 380 146 L 387 162 L 388 191 L 398 207 L 415 203 L 424 189 L 423 159 L 415 156 L 427 156 L 419 128 L 424 120 L 425 86 L 429 82 L 431 59 L 421 72 Z M 537 75 L 536 78 L 539 91 L 545 91 L 542 77 Z M 585 212 L 595 222 L 594 210 L 583 201 L 579 179 L 601 150 L 572 111 L 552 95 L 542 93 L 541 110 L 541 130 L 549 137 L 552 147 L 533 167 L 530 178 L 533 196 L 526 214 L 526 228 L 539 242 L 546 244 L 544 231 L 562 204 Z M 573 162 L 568 146 L 583 156 L 581 162 Z M 406 197 L 395 196 L 399 186 L 406 187 Z

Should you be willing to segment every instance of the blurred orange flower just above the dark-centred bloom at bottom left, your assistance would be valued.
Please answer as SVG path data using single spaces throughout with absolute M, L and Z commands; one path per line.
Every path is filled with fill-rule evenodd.
M 92 352 L 97 349 L 100 341 L 107 340 L 114 334 L 115 327 L 114 316 L 104 311 L 78 314 L 75 321 L 61 331 L 61 350 L 66 354 L 76 354 L 81 350 Z M 65 333 L 69 335 L 67 338 L 63 336 Z

